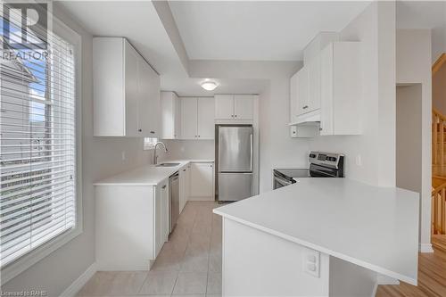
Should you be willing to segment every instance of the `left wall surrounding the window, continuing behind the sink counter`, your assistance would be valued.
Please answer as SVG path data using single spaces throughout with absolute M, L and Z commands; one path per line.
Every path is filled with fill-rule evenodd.
M 148 163 L 142 139 L 93 137 L 92 36 L 57 6 L 54 12 L 82 37 L 82 199 L 84 232 L 2 286 L 2 291 L 45 290 L 58 296 L 95 262 L 95 201 L 93 182 Z M 125 151 L 126 161 L 121 161 Z

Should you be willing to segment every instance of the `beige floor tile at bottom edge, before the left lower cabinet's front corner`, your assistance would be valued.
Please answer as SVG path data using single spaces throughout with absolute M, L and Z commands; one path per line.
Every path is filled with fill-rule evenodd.
M 172 293 L 178 271 L 150 271 L 139 294 L 170 294 Z

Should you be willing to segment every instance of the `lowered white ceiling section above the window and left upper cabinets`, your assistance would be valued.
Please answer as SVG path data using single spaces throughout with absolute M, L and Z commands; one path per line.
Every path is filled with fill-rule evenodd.
M 127 37 L 161 75 L 186 75 L 151 1 L 58 1 L 94 36 Z

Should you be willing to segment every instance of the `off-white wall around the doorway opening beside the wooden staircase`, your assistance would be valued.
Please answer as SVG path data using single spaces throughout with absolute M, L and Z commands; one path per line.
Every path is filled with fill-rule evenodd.
M 397 33 L 397 83 L 421 84 L 422 87 L 422 168 L 421 168 L 421 236 L 422 252 L 431 247 L 431 186 L 432 186 L 432 73 L 431 31 L 404 29 Z

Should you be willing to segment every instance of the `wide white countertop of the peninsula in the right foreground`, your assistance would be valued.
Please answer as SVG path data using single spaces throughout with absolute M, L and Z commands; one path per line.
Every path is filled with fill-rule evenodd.
M 419 194 L 346 178 L 298 180 L 213 211 L 417 285 Z

